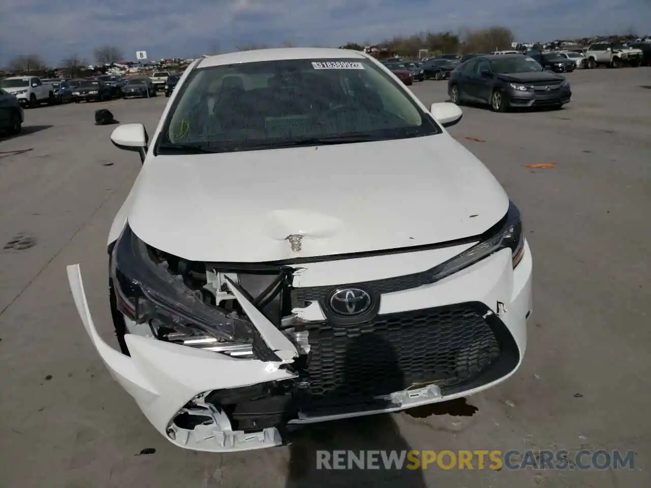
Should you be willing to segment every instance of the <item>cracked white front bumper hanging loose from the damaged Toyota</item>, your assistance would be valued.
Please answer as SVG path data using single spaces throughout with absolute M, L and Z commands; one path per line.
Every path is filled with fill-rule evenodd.
M 462 250 L 448 248 L 445 251 L 437 250 L 436 252 L 450 253 L 447 256 L 449 258 Z M 411 260 L 413 263 L 415 254 L 419 254 L 417 256 L 419 260 L 421 258 L 436 259 L 436 262 L 440 262 L 440 254 L 437 255 L 436 252 L 424 251 L 425 254 L 421 252 L 365 259 L 374 260 L 375 263 L 381 265 L 381 269 L 397 270 L 402 265 L 398 264 L 398 260 L 402 260 L 402 262 Z M 434 256 L 438 257 L 434 258 Z M 330 262 L 306 265 L 295 286 L 299 287 L 298 290 L 308 290 L 303 287 L 316 286 L 319 288 L 320 285 L 332 285 L 331 279 L 338 269 L 343 270 L 342 266 L 350 265 L 361 267 L 362 260 L 355 260 L 360 262 L 359 264 Z M 422 265 L 427 265 L 428 262 L 419 261 L 418 264 L 422 269 Z M 412 264 L 412 266 L 414 265 Z M 399 366 L 400 372 L 404 374 L 404 377 L 400 379 L 403 383 L 400 383 L 395 377 L 380 375 L 380 370 L 376 368 L 367 368 L 365 376 L 379 376 L 379 378 L 375 378 L 376 381 L 384 381 L 385 384 L 406 384 L 407 386 L 402 386 L 401 390 L 386 394 L 378 401 L 367 405 L 342 406 L 339 404 L 337 407 L 329 407 L 325 403 L 321 403 L 320 408 L 306 406 L 299 409 L 296 416 L 287 420 L 286 427 L 401 411 L 419 405 L 469 396 L 501 383 L 518 369 L 525 353 L 527 318 L 532 310 L 532 268 L 531 251 L 525 241 L 524 255 L 516 269 L 512 269 L 510 250 L 505 249 L 464 271 L 433 284 L 393 292 L 385 290 L 386 292 L 383 291 L 381 294 L 380 310 L 376 324 L 372 326 L 374 329 L 369 330 L 370 325 L 366 324 L 364 327 L 367 327 L 367 330 L 361 327 L 359 331 L 355 332 L 350 326 L 346 326 L 346 329 L 342 329 L 346 332 L 343 336 L 342 334 L 329 334 L 327 329 L 332 329 L 332 327 L 324 322 L 325 316 L 318 302 L 312 303 L 305 309 L 303 319 L 313 323 L 317 336 L 322 335 L 319 342 L 312 345 L 310 366 L 312 374 L 322 380 L 324 378 L 328 380 L 327 376 L 330 375 L 330 379 L 335 380 L 335 383 L 339 379 L 337 388 L 342 388 L 340 391 L 344 395 L 348 395 L 350 392 L 346 391 L 346 388 L 350 389 L 355 385 L 364 388 L 367 384 L 363 381 L 364 377 L 358 374 L 368 366 L 365 363 L 359 364 L 360 358 L 371 361 L 373 359 L 369 359 L 370 357 L 373 357 L 374 360 L 377 360 L 378 357 L 385 358 L 387 355 L 385 347 L 389 347 L 389 349 L 393 347 L 393 352 L 389 351 L 389 353 L 396 356 L 396 364 Z M 152 425 L 169 441 L 183 448 L 210 452 L 251 450 L 283 444 L 283 426 L 264 427 L 258 430 L 234 429 L 230 415 L 225 413 L 225 410 L 215 409 L 212 406 L 201 411 L 206 416 L 207 422 L 194 426 L 193 429 L 180 428 L 173 421 L 174 418 L 178 418 L 179 414 L 187 412 L 189 402 L 198 399 L 204 401 L 215 390 L 232 388 L 242 390 L 242 388 L 270 382 L 287 384 L 296 381 L 296 373 L 282 368 L 281 364 L 276 362 L 236 359 L 220 353 L 179 346 L 133 334 L 125 336 L 130 357 L 123 355 L 106 344 L 95 329 L 85 297 L 79 265 L 70 265 L 67 271 L 77 311 L 93 346 L 111 375 L 133 397 Z M 346 274 L 348 275 L 348 273 Z M 312 288 L 312 290 L 316 288 Z M 480 351 L 482 347 L 484 349 L 490 347 L 493 353 L 499 351 L 499 360 L 481 374 L 467 377 L 467 381 L 460 381 L 454 385 L 450 383 L 446 385 L 445 381 L 435 384 L 434 382 L 437 380 L 434 379 L 430 380 L 430 383 L 417 381 L 415 384 L 409 385 L 412 377 L 425 372 L 431 366 L 432 358 L 442 357 L 446 360 L 450 358 L 450 356 L 445 356 L 446 351 L 448 354 L 452 354 L 449 348 L 446 349 L 449 344 L 454 343 L 460 347 L 464 340 L 462 336 L 469 336 L 464 327 L 462 327 L 464 330 L 459 329 L 461 323 L 455 322 L 457 319 L 461 320 L 464 314 L 466 314 L 465 319 L 469 317 L 467 314 L 471 312 L 468 311 L 468 306 L 486 310 L 483 317 L 473 319 L 475 327 L 482 326 L 481 319 L 486 320 L 485 327 L 481 332 L 483 335 L 481 338 L 477 336 L 477 340 L 481 344 L 466 342 L 467 349 L 465 351 L 457 349 L 454 354 L 456 357 L 463 356 L 464 364 L 467 366 L 468 361 L 475 360 L 473 358 L 477 357 L 477 351 Z M 423 315 L 428 314 L 430 319 L 422 318 Z M 414 319 L 417 316 L 421 316 L 421 318 Z M 387 323 L 390 323 L 395 317 L 400 318 L 403 325 L 408 325 L 408 328 L 403 331 L 398 331 L 395 327 L 391 329 Z M 407 323 L 409 318 L 411 321 Z M 395 322 L 394 320 L 394 325 Z M 383 325 L 380 327 L 378 324 Z M 441 336 L 443 332 L 450 332 L 454 327 L 456 327 L 457 334 Z M 319 331 L 319 329 L 324 330 Z M 389 329 L 393 331 L 393 336 L 387 334 Z M 428 334 L 430 337 L 426 338 L 425 336 Z M 346 340 L 344 336 L 348 336 L 350 339 L 348 343 L 342 342 Z M 382 346 L 381 342 L 378 342 L 381 340 L 378 338 L 380 336 L 384 339 L 393 338 L 395 342 L 378 347 L 378 345 Z M 438 337 L 437 342 L 432 342 L 432 336 Z M 360 343 L 360 338 L 367 340 L 367 343 Z M 355 344 L 357 349 L 355 349 Z M 497 349 L 495 349 L 496 344 Z M 376 347 L 368 347 L 369 345 Z M 345 350 L 345 357 L 357 358 L 357 362 L 354 360 L 341 362 L 342 351 L 339 350 L 339 357 L 336 353 L 337 348 L 342 346 L 348 348 Z M 353 349 L 356 355 L 351 352 Z M 484 349 L 481 349 L 484 351 L 482 354 L 485 353 Z M 473 353 L 473 351 L 475 352 Z M 461 364 L 457 364 L 455 367 L 463 369 L 466 366 L 462 367 Z M 337 372 L 343 372 L 343 376 L 333 377 Z M 348 376 L 346 376 L 347 372 Z M 312 398 L 328 388 L 332 392 L 337 392 L 337 388 L 332 389 L 333 385 L 334 383 L 329 380 L 318 381 L 317 378 L 310 385 Z M 203 405 L 205 408 L 206 404 Z

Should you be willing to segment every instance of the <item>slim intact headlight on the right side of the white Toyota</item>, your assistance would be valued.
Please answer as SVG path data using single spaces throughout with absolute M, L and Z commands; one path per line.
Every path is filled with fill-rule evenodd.
M 502 249 L 510 249 L 513 267 L 522 260 L 525 236 L 518 208 L 510 202 L 505 217 L 482 236 L 482 241 L 467 251 L 437 266 L 436 280 L 458 273 Z

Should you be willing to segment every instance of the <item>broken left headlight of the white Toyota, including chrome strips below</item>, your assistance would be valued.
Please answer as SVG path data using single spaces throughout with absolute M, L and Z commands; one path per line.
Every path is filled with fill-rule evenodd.
M 159 340 L 252 358 L 253 334 L 238 310 L 215 306 L 205 269 L 146 245 L 127 225 L 111 251 L 116 308 Z M 146 330 L 146 327 L 145 327 Z

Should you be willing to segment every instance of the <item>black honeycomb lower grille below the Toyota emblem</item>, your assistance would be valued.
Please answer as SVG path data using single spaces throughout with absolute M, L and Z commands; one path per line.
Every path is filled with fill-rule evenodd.
M 450 394 L 502 377 L 518 363 L 512 336 L 482 303 L 306 327 L 311 351 L 301 394 L 315 405 L 355 403 L 430 384 Z

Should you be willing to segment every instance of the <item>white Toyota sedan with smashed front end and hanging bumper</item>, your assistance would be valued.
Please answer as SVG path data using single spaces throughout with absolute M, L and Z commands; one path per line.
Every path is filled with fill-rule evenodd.
M 393 412 L 518 368 L 532 260 L 519 211 L 380 62 L 342 49 L 199 59 L 109 235 L 107 368 L 169 441 L 225 452 Z

